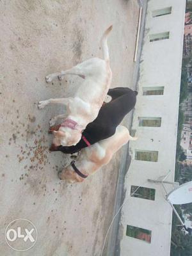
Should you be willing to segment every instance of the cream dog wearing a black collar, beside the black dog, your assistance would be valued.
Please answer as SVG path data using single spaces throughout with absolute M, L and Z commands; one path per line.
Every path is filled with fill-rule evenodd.
M 126 127 L 118 125 L 113 136 L 83 148 L 77 161 L 59 173 L 60 179 L 69 183 L 83 182 L 88 175 L 108 164 L 113 154 L 129 140 L 137 140 L 137 138 L 131 137 Z

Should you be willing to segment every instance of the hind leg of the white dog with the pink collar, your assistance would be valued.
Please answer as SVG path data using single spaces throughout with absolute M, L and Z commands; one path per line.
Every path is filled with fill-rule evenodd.
M 52 81 L 52 79 L 54 79 L 56 77 L 58 77 L 59 80 L 62 80 L 65 75 L 74 75 L 74 76 L 79 76 L 83 79 L 85 78 L 83 70 L 81 70 L 79 65 L 77 65 L 68 70 L 61 70 L 61 72 L 56 72 L 56 73 L 50 74 L 50 75 L 46 76 L 45 79 L 46 79 L 47 83 L 50 83 Z

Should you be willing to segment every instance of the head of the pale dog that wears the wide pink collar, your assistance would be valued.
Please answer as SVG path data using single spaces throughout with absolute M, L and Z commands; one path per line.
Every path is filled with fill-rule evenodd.
M 68 129 L 62 129 L 62 131 L 53 131 L 52 134 L 54 136 L 52 144 L 55 147 L 60 145 L 67 147 L 73 146 L 81 140 L 81 132 L 79 130 L 70 129 L 70 131 L 68 131 Z

